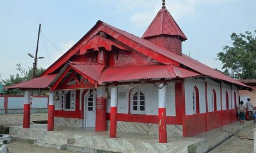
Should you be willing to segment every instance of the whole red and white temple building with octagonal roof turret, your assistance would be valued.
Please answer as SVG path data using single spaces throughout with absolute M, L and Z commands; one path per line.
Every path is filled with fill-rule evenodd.
M 238 89 L 249 87 L 183 54 L 186 40 L 163 2 L 142 37 L 97 21 L 41 77 L 6 89 L 25 91 L 23 128 L 32 90 L 49 90 L 48 130 L 159 134 L 166 143 L 237 121 Z

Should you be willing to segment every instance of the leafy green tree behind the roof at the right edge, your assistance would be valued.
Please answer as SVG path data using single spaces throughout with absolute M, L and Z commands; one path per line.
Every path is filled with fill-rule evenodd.
M 230 35 L 233 46 L 223 46 L 223 52 L 218 53 L 222 63 L 223 73 L 235 79 L 256 78 L 256 30 L 254 34 L 233 33 Z

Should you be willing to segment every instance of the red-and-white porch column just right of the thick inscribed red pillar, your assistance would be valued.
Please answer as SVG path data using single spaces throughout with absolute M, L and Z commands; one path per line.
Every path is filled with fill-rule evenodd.
M 118 88 L 117 86 L 111 87 L 111 111 L 110 111 L 110 132 L 109 137 L 116 137 L 116 122 L 118 119 Z

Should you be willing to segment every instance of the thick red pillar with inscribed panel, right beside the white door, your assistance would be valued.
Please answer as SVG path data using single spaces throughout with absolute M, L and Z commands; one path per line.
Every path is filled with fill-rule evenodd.
M 106 100 L 105 88 L 97 88 L 95 131 L 106 131 Z

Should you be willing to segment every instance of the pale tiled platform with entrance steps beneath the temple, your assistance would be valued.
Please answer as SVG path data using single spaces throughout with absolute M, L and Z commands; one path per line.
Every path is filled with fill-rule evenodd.
M 109 138 L 109 132 L 94 132 L 81 128 L 55 127 L 47 131 L 45 125 L 10 127 L 9 135 L 13 141 L 26 141 L 42 147 L 80 152 L 209 152 L 223 141 L 233 136 L 234 131 L 253 125 L 247 121 L 244 125 L 234 122 L 202 133 L 196 137 L 168 136 L 168 143 L 158 143 L 158 135 L 119 132 L 117 138 Z

